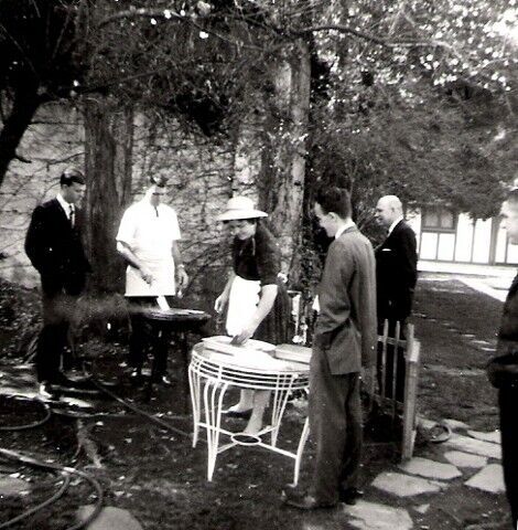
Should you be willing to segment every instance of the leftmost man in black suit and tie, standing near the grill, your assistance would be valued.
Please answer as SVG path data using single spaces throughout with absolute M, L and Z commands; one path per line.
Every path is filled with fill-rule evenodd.
M 53 385 L 73 385 L 60 365 L 77 297 L 90 271 L 82 242 L 83 216 L 76 208 L 85 192 L 85 178 L 69 168 L 60 186 L 55 199 L 35 208 L 25 237 L 25 253 L 42 284 L 43 328 L 35 365 L 43 398 L 52 395 Z

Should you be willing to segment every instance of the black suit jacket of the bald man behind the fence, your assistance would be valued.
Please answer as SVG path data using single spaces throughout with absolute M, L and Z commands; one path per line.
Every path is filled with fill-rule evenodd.
M 376 248 L 376 286 L 378 321 L 403 321 L 412 309 L 418 279 L 416 234 L 400 221 L 385 242 Z

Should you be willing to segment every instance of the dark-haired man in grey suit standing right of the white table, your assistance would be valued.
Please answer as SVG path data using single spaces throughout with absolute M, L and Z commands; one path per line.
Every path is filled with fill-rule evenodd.
M 310 367 L 310 426 L 316 441 L 315 469 L 307 492 L 287 488 L 285 504 L 300 509 L 355 504 L 361 454 L 363 367 L 376 344 L 375 257 L 369 241 L 350 219 L 346 190 L 322 190 L 314 213 L 327 235 L 319 286 L 320 314 Z

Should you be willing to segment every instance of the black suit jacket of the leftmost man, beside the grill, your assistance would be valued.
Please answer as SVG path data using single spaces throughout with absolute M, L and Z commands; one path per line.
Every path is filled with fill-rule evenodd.
M 40 273 L 42 289 L 53 296 L 78 295 L 85 287 L 90 265 L 82 242 L 83 215 L 76 209 L 75 225 L 57 199 L 35 208 L 25 237 L 25 253 Z

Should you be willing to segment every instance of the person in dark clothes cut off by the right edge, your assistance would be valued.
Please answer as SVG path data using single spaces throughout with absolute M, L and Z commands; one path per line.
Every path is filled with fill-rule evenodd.
M 500 210 L 501 226 L 510 243 L 518 244 L 518 190 L 512 190 Z M 498 389 L 500 409 L 501 465 L 512 528 L 518 521 L 518 275 L 509 288 L 495 357 L 487 365 L 492 384 Z

